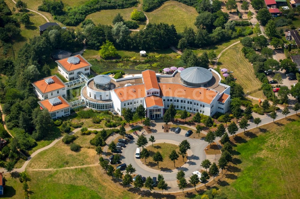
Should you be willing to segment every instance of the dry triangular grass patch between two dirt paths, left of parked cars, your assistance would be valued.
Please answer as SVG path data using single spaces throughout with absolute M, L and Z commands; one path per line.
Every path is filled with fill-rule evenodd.
M 71 151 L 70 146 L 64 144 L 62 140 L 60 140 L 50 149 L 42 151 L 33 157 L 28 164 L 28 168 L 64 168 L 97 163 L 99 156 L 96 154 L 94 147 L 89 143 L 95 134 L 80 135 L 80 133 L 77 132 L 75 135 L 78 136 L 78 138 L 74 143 L 77 143 L 82 147 L 79 152 Z M 61 151 L 63 151 L 63 153 Z

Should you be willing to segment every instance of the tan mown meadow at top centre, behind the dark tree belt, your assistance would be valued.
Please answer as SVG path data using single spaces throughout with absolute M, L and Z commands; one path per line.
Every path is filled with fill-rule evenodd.
M 182 32 L 185 26 L 196 29 L 194 25 L 198 16 L 196 9 L 177 1 L 167 1 L 158 9 L 145 14 L 149 18 L 149 23 L 174 24 L 177 32 Z

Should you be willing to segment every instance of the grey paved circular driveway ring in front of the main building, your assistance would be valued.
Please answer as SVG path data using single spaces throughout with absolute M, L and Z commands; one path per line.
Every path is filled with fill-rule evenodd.
M 179 170 L 185 172 L 185 176 L 191 176 L 192 172 L 199 171 L 202 160 L 206 158 L 205 147 L 208 145 L 207 142 L 201 139 L 192 139 L 185 137 L 184 134 L 175 134 L 175 133 L 152 133 L 145 135 L 149 139 L 150 135 L 155 137 L 157 140 L 155 143 L 181 143 L 182 140 L 187 140 L 190 143 L 191 149 L 187 151 L 188 158 L 187 162 L 179 168 L 167 171 L 161 171 L 152 169 L 142 163 L 140 159 L 135 158 L 135 151 L 138 148 L 136 145 L 137 137 L 134 136 L 134 140 L 131 140 L 130 143 L 126 145 L 126 148 L 122 150 L 122 163 L 127 165 L 132 164 L 132 166 L 137 170 L 135 174 L 141 174 L 144 177 L 157 177 L 158 174 L 162 174 L 166 181 L 176 180 L 176 174 Z M 148 145 L 152 145 L 149 143 Z M 165 157 L 168 158 L 168 157 Z M 179 157 L 182 158 L 181 156 Z M 176 160 L 178 161 L 178 160 Z

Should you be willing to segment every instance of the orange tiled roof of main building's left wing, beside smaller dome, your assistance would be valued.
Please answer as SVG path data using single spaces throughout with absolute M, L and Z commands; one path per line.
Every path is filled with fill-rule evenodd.
M 146 96 L 144 84 L 136 84 L 114 89 L 121 102 Z

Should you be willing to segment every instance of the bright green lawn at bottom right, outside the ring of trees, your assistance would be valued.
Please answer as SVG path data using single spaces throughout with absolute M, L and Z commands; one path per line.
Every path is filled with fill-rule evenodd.
M 296 120 L 238 144 L 235 158 L 242 171 L 224 187 L 228 198 L 298 198 L 299 131 Z

